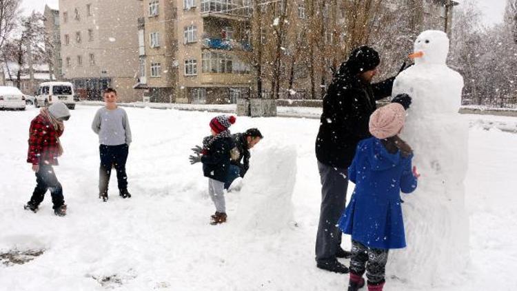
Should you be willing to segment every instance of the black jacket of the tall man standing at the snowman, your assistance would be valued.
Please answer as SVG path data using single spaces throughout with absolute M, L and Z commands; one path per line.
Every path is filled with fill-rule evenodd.
M 325 165 L 348 168 L 361 139 L 371 137 L 369 116 L 375 101 L 392 92 L 394 77 L 381 83 L 364 83 L 345 66 L 332 80 L 323 97 L 323 114 L 316 138 L 316 158 Z

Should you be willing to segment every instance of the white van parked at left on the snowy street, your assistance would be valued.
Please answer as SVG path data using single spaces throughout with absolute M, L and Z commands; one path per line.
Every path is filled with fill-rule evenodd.
M 61 102 L 70 108 L 75 108 L 74 86 L 70 82 L 45 82 L 39 84 L 34 106 L 49 106 L 52 102 Z

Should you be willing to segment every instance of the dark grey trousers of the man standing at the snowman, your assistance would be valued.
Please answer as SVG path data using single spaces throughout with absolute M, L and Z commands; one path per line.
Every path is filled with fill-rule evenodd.
M 341 230 L 336 226 L 347 202 L 348 169 L 334 168 L 318 161 L 321 179 L 321 210 L 316 235 L 316 261 L 336 259 Z

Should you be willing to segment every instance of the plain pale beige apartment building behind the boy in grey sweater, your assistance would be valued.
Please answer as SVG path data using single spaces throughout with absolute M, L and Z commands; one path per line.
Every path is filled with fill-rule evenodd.
M 63 78 L 81 99 L 101 99 L 112 87 L 121 101 L 140 100 L 137 19 L 141 0 L 59 0 Z

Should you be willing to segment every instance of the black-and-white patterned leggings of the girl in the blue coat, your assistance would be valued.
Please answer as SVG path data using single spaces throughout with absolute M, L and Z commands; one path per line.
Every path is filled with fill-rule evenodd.
M 352 240 L 352 258 L 350 272 L 363 276 L 366 271 L 368 283 L 378 285 L 385 282 L 388 250 L 368 248 L 358 241 Z

